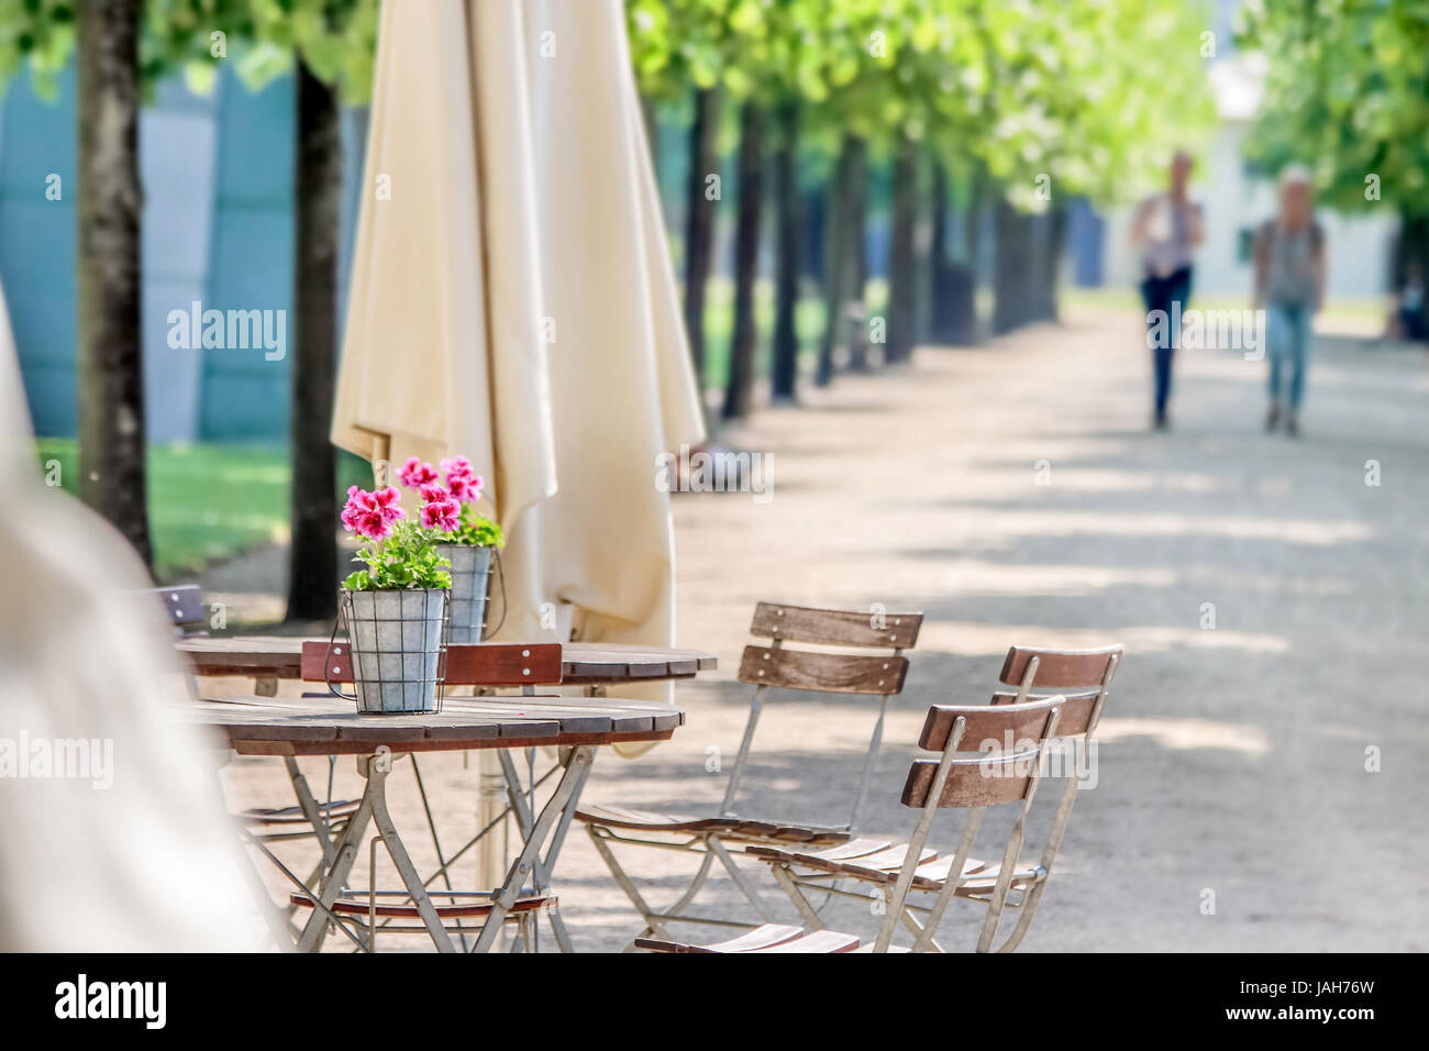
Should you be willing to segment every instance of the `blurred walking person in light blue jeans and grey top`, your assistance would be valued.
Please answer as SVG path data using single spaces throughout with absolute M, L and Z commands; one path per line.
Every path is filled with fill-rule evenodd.
M 1255 237 L 1255 302 L 1266 312 L 1270 359 L 1266 430 L 1285 420 L 1290 438 L 1300 433 L 1312 326 L 1323 300 L 1325 232 L 1315 222 L 1315 189 L 1309 170 L 1290 166 L 1280 172 L 1279 212 Z

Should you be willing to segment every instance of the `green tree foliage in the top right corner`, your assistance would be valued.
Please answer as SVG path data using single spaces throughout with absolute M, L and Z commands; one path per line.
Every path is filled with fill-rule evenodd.
M 1340 209 L 1386 200 L 1429 214 L 1429 4 L 1263 0 L 1240 44 L 1268 61 L 1253 162 L 1308 164 Z

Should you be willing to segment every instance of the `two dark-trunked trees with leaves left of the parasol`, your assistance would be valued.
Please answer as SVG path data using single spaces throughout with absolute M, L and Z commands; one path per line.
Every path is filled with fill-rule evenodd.
M 294 73 L 294 339 L 289 616 L 334 612 L 340 104 L 372 90 L 377 0 L 0 0 L 0 80 L 27 64 L 41 93 L 74 60 L 79 100 L 80 495 L 151 562 L 140 343 L 139 112 L 181 73 L 211 90 L 233 54 L 260 90 Z

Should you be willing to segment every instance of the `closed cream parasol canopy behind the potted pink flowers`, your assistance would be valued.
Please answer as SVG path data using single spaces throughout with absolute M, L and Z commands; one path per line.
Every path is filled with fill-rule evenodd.
M 364 187 L 333 440 L 493 482 L 503 636 L 670 645 L 703 419 L 619 0 L 384 4 Z

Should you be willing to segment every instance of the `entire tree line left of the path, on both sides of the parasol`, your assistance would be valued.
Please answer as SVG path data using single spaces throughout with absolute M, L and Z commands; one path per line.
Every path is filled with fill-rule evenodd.
M 209 90 L 230 51 L 262 87 L 296 73 L 296 353 L 289 615 L 332 613 L 336 579 L 333 450 L 327 440 L 337 342 L 342 154 L 339 106 L 370 92 L 377 0 L 0 0 L 0 77 L 29 64 L 43 87 L 79 66 L 79 363 L 81 495 L 150 555 L 140 380 L 137 114 L 154 82 L 181 71 Z M 752 408 L 755 289 L 775 212 L 776 309 L 770 379 L 797 388 L 800 276 L 822 280 L 826 325 L 816 380 L 835 373 L 845 317 L 865 303 L 870 182 L 892 182 L 882 357 L 906 360 L 926 297 L 932 336 L 973 333 L 979 223 L 947 243 L 949 216 L 993 210 L 993 330 L 1055 315 L 1055 267 L 1073 194 L 1123 196 L 1209 116 L 1205 26 L 1162 0 L 627 0 L 647 106 L 689 113 L 684 316 L 706 365 L 722 136 L 737 142 L 735 320 L 723 416 Z M 652 122 L 652 127 L 656 123 Z M 809 173 L 819 187 L 809 189 Z M 766 184 L 772 187 L 766 199 Z M 723 196 L 723 194 L 720 194 Z M 823 222 L 817 266 L 800 210 Z M 1049 212 L 1036 250 L 1033 210 Z M 917 265 L 919 216 L 932 226 Z M 919 273 L 932 289 L 920 292 Z M 867 327 L 849 340 L 870 360 Z

